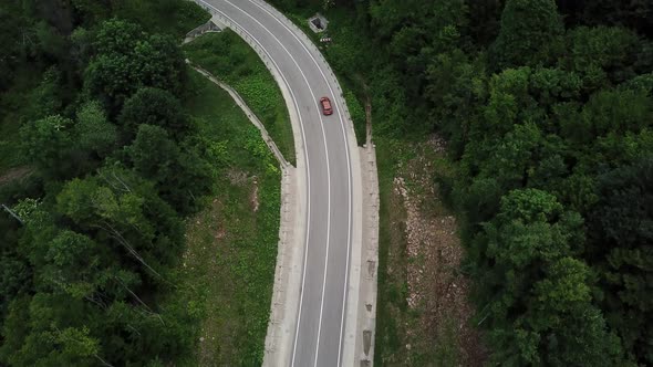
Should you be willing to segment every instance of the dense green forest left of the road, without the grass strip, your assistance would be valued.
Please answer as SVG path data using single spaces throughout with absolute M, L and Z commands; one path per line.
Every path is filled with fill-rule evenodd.
M 2 174 L 31 170 L 0 186 L 0 365 L 164 366 L 193 348 L 187 310 L 158 300 L 217 175 L 180 103 L 180 39 L 206 19 L 176 0 L 0 4 Z

